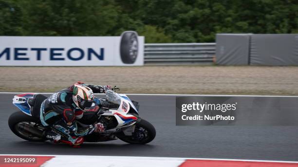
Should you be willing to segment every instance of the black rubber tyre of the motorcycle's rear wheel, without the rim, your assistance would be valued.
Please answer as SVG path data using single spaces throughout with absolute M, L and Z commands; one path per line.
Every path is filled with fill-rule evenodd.
M 20 138 L 24 139 L 24 140 L 28 140 L 28 141 L 35 141 L 35 142 L 42 142 L 45 141 L 45 138 L 30 138 L 29 136 L 26 136 L 24 134 L 22 134 L 18 128 L 18 125 L 22 122 L 33 122 L 36 123 L 38 122 L 39 119 L 37 117 L 31 117 L 28 116 L 20 111 L 13 113 L 12 115 L 10 115 L 10 117 L 8 118 L 8 125 L 10 130 L 16 134 L 17 136 L 19 136 Z

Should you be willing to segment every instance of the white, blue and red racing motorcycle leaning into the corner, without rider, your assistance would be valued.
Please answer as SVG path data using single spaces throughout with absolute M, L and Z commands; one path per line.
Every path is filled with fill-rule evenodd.
M 130 144 L 147 144 L 151 142 L 155 135 L 155 128 L 151 123 L 139 117 L 139 104 L 137 101 L 130 100 L 125 94 L 118 94 L 112 90 L 106 90 L 104 100 L 110 104 L 108 108 L 101 109 L 96 114 L 93 111 L 98 109 L 93 101 L 92 107 L 83 117 L 87 119 L 78 119 L 78 127 L 86 127 L 96 122 L 106 125 L 102 133 L 91 133 L 84 136 L 86 142 L 103 142 L 120 140 Z M 47 139 L 44 132 L 51 127 L 43 126 L 40 121 L 40 106 L 47 97 L 41 94 L 25 93 L 14 96 L 13 104 L 20 111 L 13 113 L 8 124 L 10 130 L 22 139 L 35 142 L 43 142 Z M 98 100 L 95 98 L 95 100 Z M 52 128 L 53 130 L 53 128 Z M 59 132 L 58 132 L 59 133 Z M 65 135 L 60 133 L 61 135 Z

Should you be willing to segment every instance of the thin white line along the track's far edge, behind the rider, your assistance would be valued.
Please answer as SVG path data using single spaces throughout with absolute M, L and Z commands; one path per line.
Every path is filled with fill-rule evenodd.
M 0 94 L 22 94 L 22 93 L 39 93 L 39 94 L 53 94 L 42 92 L 0 92 Z M 104 95 L 103 93 L 94 93 L 95 95 Z M 224 97 L 289 97 L 297 98 L 298 96 L 274 96 L 274 95 L 183 95 L 183 94 L 135 94 L 128 93 L 126 95 L 139 95 L 139 96 L 224 96 Z

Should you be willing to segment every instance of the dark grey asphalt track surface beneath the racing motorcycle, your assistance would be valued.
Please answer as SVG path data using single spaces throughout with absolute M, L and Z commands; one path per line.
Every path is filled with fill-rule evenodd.
M 48 96 L 48 95 L 46 95 Z M 175 96 L 130 95 L 140 102 L 140 116 L 156 128 L 147 145 L 120 140 L 84 143 L 79 149 L 64 144 L 24 141 L 8 127 L 18 111 L 13 94 L 0 94 L 0 154 L 61 154 L 191 157 L 298 161 L 298 126 L 175 126 Z

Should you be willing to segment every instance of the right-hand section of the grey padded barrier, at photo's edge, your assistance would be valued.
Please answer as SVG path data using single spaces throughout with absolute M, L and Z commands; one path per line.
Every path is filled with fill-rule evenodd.
M 298 66 L 298 34 L 252 34 L 250 65 Z

